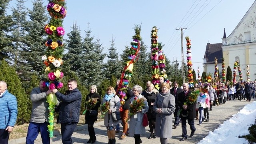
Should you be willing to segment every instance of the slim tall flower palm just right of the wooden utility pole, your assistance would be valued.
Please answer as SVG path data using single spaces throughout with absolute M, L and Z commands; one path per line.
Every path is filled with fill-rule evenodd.
M 191 43 L 190 39 L 188 36 L 185 37 L 187 41 L 187 66 L 188 66 L 188 82 L 189 82 L 189 87 L 193 88 L 194 87 L 194 79 L 193 79 L 193 68 L 192 68 L 192 54 L 191 54 Z

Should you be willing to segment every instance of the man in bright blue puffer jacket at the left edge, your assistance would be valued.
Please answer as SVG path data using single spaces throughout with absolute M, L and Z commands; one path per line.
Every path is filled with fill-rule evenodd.
M 18 114 L 17 99 L 7 90 L 7 84 L 0 81 L 0 144 L 8 144 Z

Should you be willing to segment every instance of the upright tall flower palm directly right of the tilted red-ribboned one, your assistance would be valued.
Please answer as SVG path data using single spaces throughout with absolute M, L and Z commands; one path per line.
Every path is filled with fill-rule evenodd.
M 158 36 L 157 36 L 157 27 L 153 26 L 151 30 L 151 60 L 152 60 L 152 84 L 155 88 L 159 89 L 159 65 L 158 65 Z

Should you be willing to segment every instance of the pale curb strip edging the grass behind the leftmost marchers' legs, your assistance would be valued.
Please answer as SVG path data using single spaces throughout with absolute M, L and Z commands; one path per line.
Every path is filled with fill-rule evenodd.
M 95 122 L 94 127 L 100 126 L 100 125 L 103 125 L 103 124 L 104 124 L 104 120 L 99 121 L 99 122 Z M 84 124 L 82 126 L 77 126 L 75 128 L 74 132 L 84 130 L 84 129 L 87 129 L 87 124 Z M 60 135 L 60 130 L 54 130 L 53 136 L 57 136 L 57 135 Z M 36 140 L 41 140 L 41 134 L 40 133 L 38 134 Z M 8 144 L 23 144 L 23 143 L 26 143 L 26 137 L 12 139 L 12 140 L 8 141 Z

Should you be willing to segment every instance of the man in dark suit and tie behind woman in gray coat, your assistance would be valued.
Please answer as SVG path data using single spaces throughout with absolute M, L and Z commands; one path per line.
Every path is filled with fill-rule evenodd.
M 180 125 L 180 121 L 179 121 L 179 119 L 180 119 L 180 114 L 179 114 L 180 106 L 178 106 L 178 94 L 182 91 L 183 90 L 181 88 L 179 88 L 178 83 L 176 81 L 173 82 L 173 88 L 170 89 L 170 93 L 172 95 L 174 95 L 174 97 L 175 97 L 175 112 L 174 112 L 175 122 L 174 122 L 173 128 L 177 128 L 177 126 Z

